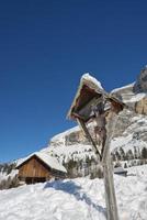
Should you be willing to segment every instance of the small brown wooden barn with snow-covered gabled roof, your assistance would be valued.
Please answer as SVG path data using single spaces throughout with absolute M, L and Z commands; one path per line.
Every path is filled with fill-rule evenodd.
M 65 178 L 67 170 L 57 158 L 46 153 L 35 153 L 22 160 L 16 168 L 19 179 L 26 184 L 43 183 L 50 178 Z

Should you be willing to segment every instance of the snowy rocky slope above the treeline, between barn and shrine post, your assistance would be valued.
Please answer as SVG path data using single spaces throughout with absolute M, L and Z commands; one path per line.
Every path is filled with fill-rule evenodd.
M 42 152 L 58 157 L 61 163 L 94 157 L 92 146 L 79 127 L 55 135 Z

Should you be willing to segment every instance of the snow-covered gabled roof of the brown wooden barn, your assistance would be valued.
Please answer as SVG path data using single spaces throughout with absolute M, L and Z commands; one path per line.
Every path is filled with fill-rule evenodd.
M 66 168 L 58 162 L 57 158 L 49 156 L 47 153 L 43 153 L 43 152 L 36 152 L 34 154 L 29 155 L 27 157 L 19 161 L 16 168 L 19 168 L 20 166 L 22 166 L 26 161 L 29 161 L 31 157 L 36 156 L 38 157 L 41 161 L 43 161 L 48 167 L 56 169 L 56 170 L 60 170 L 63 173 L 67 173 Z

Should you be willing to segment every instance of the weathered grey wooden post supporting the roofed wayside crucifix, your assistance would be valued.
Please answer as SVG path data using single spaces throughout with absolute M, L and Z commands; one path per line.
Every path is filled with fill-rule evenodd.
M 110 154 L 110 144 L 113 135 L 113 130 L 115 128 L 116 119 L 116 113 L 111 111 L 106 127 L 106 141 L 102 157 L 108 220 L 118 220 L 118 211 L 113 179 L 113 167 Z

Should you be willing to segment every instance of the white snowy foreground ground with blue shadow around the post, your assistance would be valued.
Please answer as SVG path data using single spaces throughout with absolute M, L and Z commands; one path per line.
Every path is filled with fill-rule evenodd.
M 147 220 L 147 165 L 115 175 L 120 220 Z M 0 220 L 105 220 L 102 179 L 77 178 L 0 191 Z

